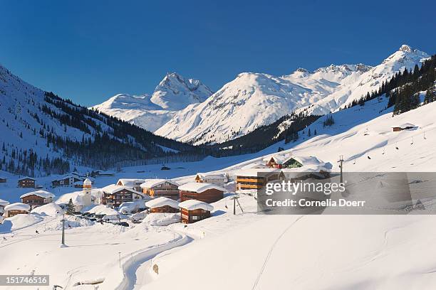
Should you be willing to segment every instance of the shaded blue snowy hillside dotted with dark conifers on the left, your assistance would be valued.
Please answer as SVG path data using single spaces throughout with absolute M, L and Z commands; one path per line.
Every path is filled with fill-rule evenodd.
M 0 116 L 0 167 L 11 173 L 35 176 L 74 166 L 108 168 L 201 155 L 192 146 L 39 90 L 2 66 Z

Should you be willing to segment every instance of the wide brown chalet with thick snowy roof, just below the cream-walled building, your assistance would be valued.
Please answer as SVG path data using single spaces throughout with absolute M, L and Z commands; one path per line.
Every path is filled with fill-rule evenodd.
M 180 201 L 199 200 L 214 203 L 224 198 L 225 188 L 212 183 L 187 183 L 179 186 Z

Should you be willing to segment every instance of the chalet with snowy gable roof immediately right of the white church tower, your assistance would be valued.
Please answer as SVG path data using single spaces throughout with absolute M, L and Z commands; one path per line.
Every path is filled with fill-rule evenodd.
M 145 198 L 143 193 L 140 193 L 133 188 L 127 188 L 115 184 L 102 188 L 102 191 L 103 196 L 101 198 L 101 203 L 113 208 L 118 208 L 122 203 Z

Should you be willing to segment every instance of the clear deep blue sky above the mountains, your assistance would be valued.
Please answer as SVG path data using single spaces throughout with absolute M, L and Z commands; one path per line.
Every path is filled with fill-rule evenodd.
M 363 4 L 364 3 L 364 4 Z M 213 90 L 238 73 L 435 53 L 435 1 L 1 1 L 0 63 L 85 105 L 167 72 Z

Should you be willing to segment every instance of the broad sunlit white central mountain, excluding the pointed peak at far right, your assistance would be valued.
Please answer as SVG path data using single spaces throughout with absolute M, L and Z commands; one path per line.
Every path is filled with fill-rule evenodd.
M 205 102 L 175 114 L 156 134 L 197 144 L 233 139 L 322 100 L 368 70 L 360 64 L 331 65 L 313 73 L 299 68 L 281 77 L 241 73 Z

